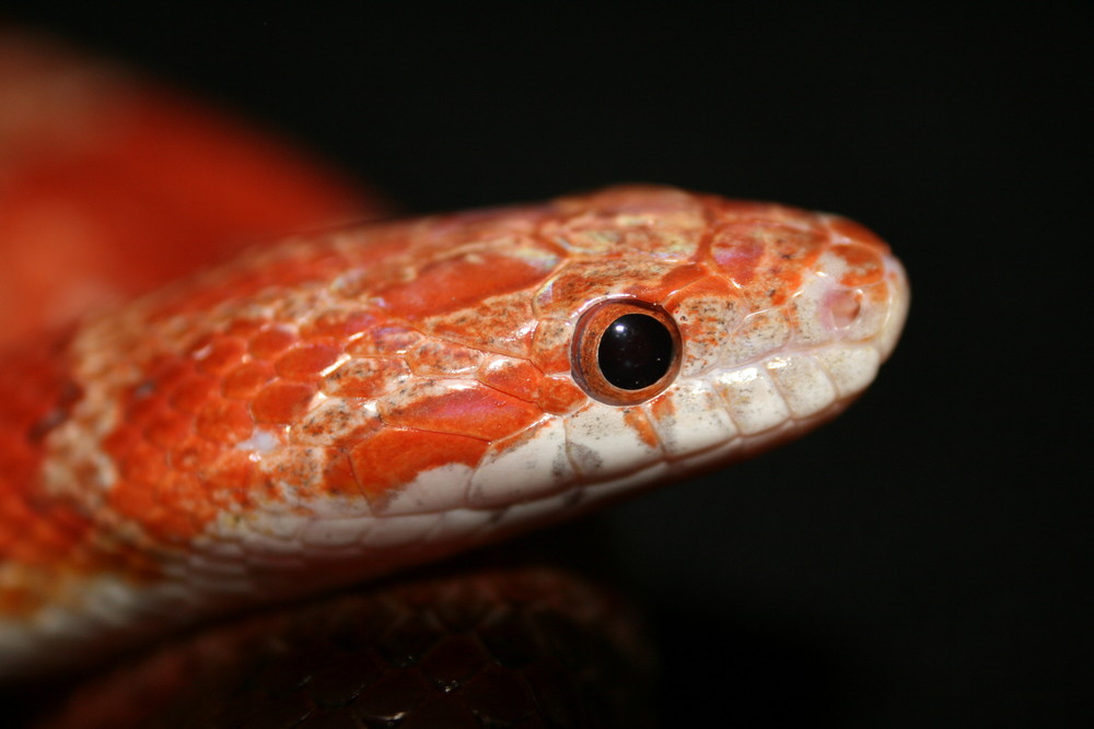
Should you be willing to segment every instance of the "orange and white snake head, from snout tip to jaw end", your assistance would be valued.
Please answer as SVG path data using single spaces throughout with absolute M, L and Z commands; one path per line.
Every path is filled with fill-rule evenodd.
M 266 555 L 275 580 L 386 572 L 787 440 L 873 380 L 908 301 L 888 247 L 846 219 L 660 187 L 315 250 L 275 254 L 338 264 L 276 290 L 274 324 L 235 346 L 254 367 L 278 340 L 281 377 L 233 444 L 253 496 L 222 498 L 201 536 Z M 307 384 L 284 376 L 312 356 Z

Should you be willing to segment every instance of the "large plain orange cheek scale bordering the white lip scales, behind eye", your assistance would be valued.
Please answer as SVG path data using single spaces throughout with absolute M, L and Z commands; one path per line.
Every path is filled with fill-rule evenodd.
M 420 473 L 452 463 L 474 467 L 489 444 L 451 433 L 386 428 L 349 454 L 366 496 L 381 496 L 411 483 Z

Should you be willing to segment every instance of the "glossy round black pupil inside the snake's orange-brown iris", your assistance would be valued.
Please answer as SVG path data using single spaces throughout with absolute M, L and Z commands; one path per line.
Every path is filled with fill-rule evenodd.
M 621 390 L 655 385 L 673 362 L 673 337 L 665 325 L 644 314 L 626 314 L 612 322 L 596 351 L 601 374 Z

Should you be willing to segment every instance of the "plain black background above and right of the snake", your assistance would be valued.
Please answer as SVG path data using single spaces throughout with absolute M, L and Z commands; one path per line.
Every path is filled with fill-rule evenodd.
M 650 615 L 665 726 L 1064 726 L 1092 678 L 1092 28 L 991 7 L 7 14 L 263 120 L 408 212 L 649 180 L 877 231 L 912 307 L 858 404 L 558 538 L 595 530 Z

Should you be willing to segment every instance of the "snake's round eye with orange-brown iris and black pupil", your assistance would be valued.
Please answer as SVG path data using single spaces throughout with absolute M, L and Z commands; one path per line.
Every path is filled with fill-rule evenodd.
M 632 405 L 672 384 L 680 350 L 679 329 L 660 306 L 612 299 L 581 316 L 570 362 L 574 380 L 591 397 Z

